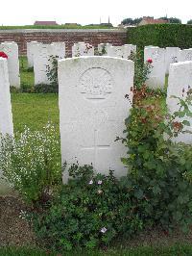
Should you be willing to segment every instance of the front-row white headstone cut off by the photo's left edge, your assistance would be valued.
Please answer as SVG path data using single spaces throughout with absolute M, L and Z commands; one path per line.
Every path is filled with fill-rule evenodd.
M 13 135 L 8 63 L 3 58 L 0 58 L 0 133 Z

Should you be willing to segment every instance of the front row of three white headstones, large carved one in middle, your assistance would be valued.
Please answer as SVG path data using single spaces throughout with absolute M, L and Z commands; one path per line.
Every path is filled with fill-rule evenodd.
M 116 176 L 127 169 L 120 158 L 126 148 L 116 137 L 123 136 L 124 120 L 132 108 L 134 64 L 113 57 L 79 57 L 59 61 L 60 143 L 62 163 L 92 164 L 97 171 L 114 169 Z M 178 110 L 175 96 L 186 96 L 192 87 L 192 62 L 170 64 L 167 105 Z M 184 89 L 184 92 L 183 92 Z M 130 93 L 130 101 L 125 95 Z M 191 110 L 192 111 L 192 110 Z M 185 117 L 184 117 L 185 118 Z M 192 118 L 188 117 L 192 125 Z M 192 127 L 189 128 L 192 131 Z M 13 135 L 8 61 L 0 58 L 0 132 Z M 192 135 L 177 141 L 192 143 Z M 63 180 L 68 178 L 67 172 Z

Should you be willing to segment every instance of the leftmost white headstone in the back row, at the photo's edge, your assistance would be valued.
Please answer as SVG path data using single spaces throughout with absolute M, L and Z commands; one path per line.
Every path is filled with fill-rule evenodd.
M 18 60 L 18 45 L 16 42 L 2 42 L 0 44 L 0 51 L 8 55 L 8 70 L 10 86 L 20 88 L 19 75 L 19 60 Z

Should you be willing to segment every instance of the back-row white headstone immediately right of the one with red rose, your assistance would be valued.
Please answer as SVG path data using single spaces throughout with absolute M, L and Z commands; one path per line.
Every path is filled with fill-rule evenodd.
M 166 52 L 165 52 L 166 74 L 169 74 L 170 64 L 179 62 L 179 57 L 180 57 L 179 47 L 166 47 Z

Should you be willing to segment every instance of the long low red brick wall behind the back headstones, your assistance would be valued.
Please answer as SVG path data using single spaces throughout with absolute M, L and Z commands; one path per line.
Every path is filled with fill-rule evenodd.
M 122 45 L 127 42 L 126 30 L 58 30 L 58 29 L 41 29 L 41 30 L 0 30 L 0 42 L 15 41 L 18 43 L 19 54 L 26 54 L 26 42 L 36 40 L 43 43 L 53 41 L 64 41 L 66 44 L 66 55 L 71 55 L 71 47 L 74 42 L 89 42 L 95 47 L 101 42 L 110 42 L 113 45 Z

